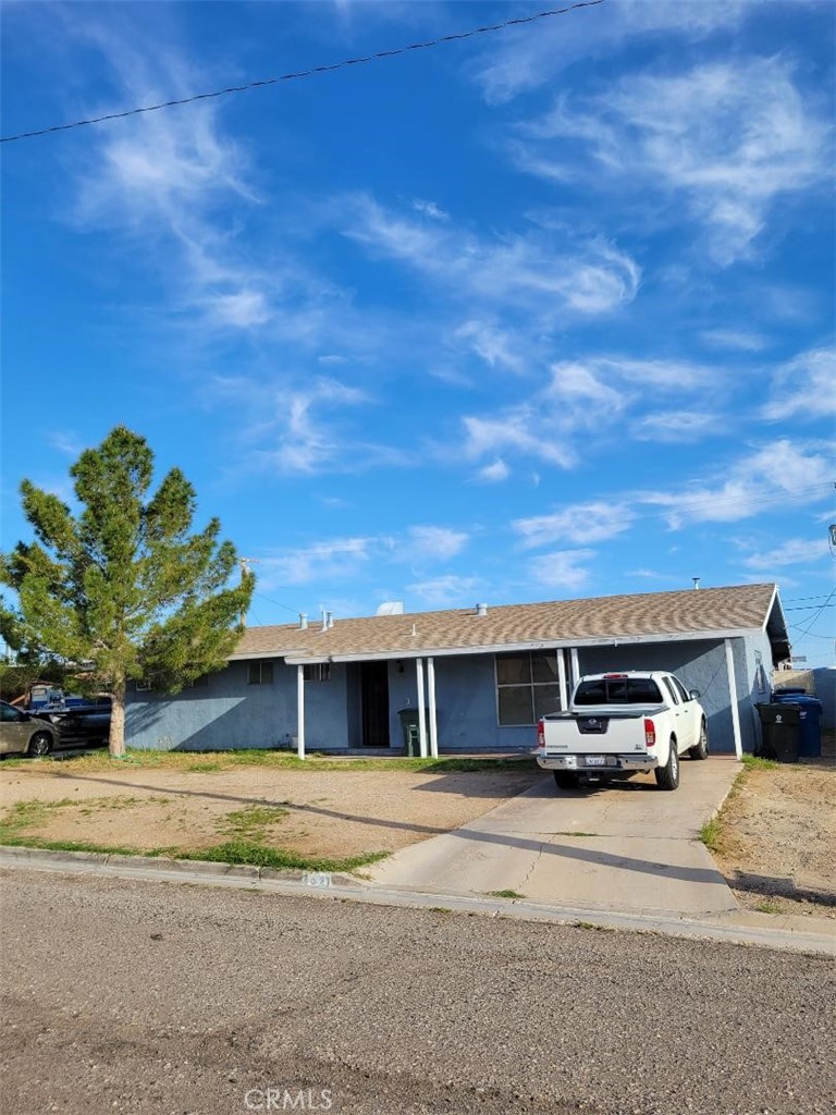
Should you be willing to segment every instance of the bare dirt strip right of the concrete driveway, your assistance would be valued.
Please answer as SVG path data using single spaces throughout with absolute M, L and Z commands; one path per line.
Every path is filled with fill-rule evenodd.
M 717 826 L 715 860 L 741 906 L 836 918 L 836 763 L 747 769 Z

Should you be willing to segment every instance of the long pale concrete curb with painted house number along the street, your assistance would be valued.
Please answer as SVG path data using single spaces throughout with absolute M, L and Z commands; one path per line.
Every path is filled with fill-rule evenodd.
M 46 849 L 0 845 L 0 867 L 28 866 L 41 871 L 96 873 L 120 879 L 252 888 L 288 898 L 320 898 L 363 902 L 370 905 L 424 909 L 438 914 L 466 913 L 548 922 L 580 929 L 609 929 L 653 933 L 687 940 L 711 940 L 727 944 L 756 946 L 813 954 L 836 956 L 836 921 L 827 932 L 752 925 L 735 913 L 707 913 L 684 918 L 673 911 L 635 913 L 538 903 L 519 899 L 479 898 L 466 894 L 432 894 L 363 883 L 352 875 L 213 863 L 206 860 L 106 854 L 104 852 L 51 852 Z M 768 915 L 764 915 L 768 917 Z

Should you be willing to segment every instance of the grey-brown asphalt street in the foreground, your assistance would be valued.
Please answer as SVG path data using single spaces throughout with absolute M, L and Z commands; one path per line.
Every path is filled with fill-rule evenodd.
M 2 1112 L 815 1115 L 825 957 L 2 872 Z

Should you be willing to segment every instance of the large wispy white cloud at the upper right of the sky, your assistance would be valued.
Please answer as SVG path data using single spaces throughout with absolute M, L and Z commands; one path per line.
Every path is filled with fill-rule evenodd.
M 532 173 L 587 181 L 590 166 L 568 162 L 575 140 L 596 181 L 683 196 L 721 265 L 749 254 L 779 197 L 823 182 L 832 165 L 826 112 L 801 94 L 782 58 L 623 78 L 584 107 L 560 98 L 523 130 L 517 156 Z

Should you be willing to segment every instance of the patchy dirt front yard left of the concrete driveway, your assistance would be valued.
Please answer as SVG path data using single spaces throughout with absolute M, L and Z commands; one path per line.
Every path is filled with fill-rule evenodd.
M 79 773 L 70 769 L 77 763 L 0 769 L 0 843 L 35 837 L 194 855 L 244 842 L 333 861 L 338 870 L 448 832 L 542 777 L 527 767 L 435 774 L 212 766 L 108 769 L 96 759 Z

